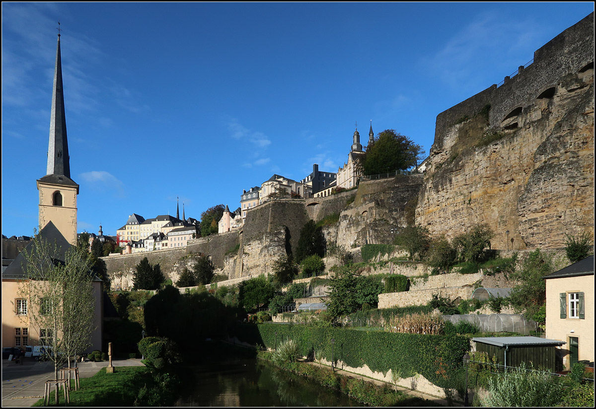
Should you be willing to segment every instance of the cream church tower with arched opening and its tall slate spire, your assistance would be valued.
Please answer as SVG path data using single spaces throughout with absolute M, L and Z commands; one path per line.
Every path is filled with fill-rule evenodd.
M 69 144 L 66 138 L 66 115 L 62 87 L 60 33 L 56 49 L 54 89 L 49 121 L 48 168 L 46 175 L 37 180 L 39 191 L 39 229 L 49 221 L 57 227 L 72 245 L 77 241 L 77 204 L 79 185 L 70 179 Z

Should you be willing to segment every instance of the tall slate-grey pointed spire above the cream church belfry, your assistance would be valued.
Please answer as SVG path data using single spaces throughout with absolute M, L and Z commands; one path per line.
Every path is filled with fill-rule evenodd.
M 46 174 L 63 175 L 70 179 L 69 143 L 66 138 L 62 61 L 60 58 L 60 29 L 58 29 L 54 88 L 52 89 L 52 108 L 49 122 L 48 168 Z

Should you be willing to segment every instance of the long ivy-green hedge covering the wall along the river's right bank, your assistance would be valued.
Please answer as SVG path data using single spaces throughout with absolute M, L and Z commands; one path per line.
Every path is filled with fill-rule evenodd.
M 240 341 L 275 348 L 285 339 L 293 339 L 303 356 L 321 354 L 331 361 L 343 361 L 358 368 L 386 374 L 390 369 L 402 377 L 419 373 L 441 388 L 459 388 L 462 357 L 470 349 L 464 336 L 421 335 L 362 331 L 331 327 L 282 324 L 243 324 L 237 327 Z

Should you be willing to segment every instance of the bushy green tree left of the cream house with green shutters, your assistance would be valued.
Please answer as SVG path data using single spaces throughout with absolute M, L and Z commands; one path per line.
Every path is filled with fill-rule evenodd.
M 516 313 L 523 313 L 527 319 L 544 324 L 542 307 L 547 301 L 547 285 L 544 276 L 554 271 L 551 257 L 540 249 L 527 254 L 522 261 L 522 268 L 510 274 L 510 278 L 519 282 L 511 289 L 509 301 Z

